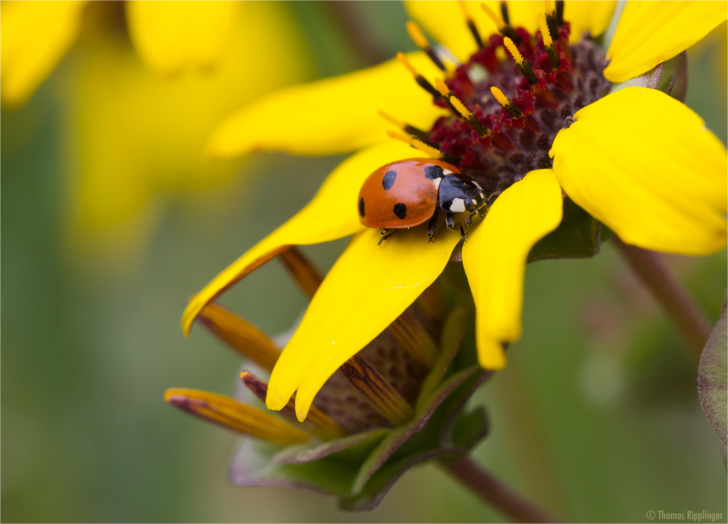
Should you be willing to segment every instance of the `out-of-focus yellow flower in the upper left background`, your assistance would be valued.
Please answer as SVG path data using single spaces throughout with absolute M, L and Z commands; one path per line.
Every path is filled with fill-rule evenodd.
M 215 124 L 309 74 L 282 4 L 9 1 L 1 23 L 4 107 L 22 106 L 71 49 L 51 88 L 63 107 L 69 240 L 91 266 L 127 266 L 170 195 L 238 172 L 240 160 L 204 155 Z

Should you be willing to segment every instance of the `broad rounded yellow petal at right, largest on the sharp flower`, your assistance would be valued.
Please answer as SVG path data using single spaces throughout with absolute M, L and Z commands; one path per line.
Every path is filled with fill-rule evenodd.
M 684 255 L 726 245 L 726 149 L 700 116 L 646 87 L 574 116 L 550 151 L 574 202 L 628 244 Z

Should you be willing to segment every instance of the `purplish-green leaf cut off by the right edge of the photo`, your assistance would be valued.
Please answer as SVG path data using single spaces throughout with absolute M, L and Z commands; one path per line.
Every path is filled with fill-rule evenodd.
M 728 445 L 727 434 L 727 405 L 728 394 L 726 389 L 726 365 L 728 339 L 726 333 L 726 302 L 723 302 L 723 312 L 713 328 L 708 344 L 705 344 L 703 354 L 700 355 L 700 366 L 697 374 L 697 392 L 700 394 L 700 405 L 713 429 L 724 444 Z

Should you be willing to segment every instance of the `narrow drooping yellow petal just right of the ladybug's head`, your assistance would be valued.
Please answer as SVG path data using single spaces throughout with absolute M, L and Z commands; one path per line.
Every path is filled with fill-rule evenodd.
M 523 274 L 531 247 L 561 223 L 561 188 L 551 170 L 531 171 L 496 199 L 462 249 L 475 300 L 478 362 L 505 366 L 502 343 L 521 337 Z

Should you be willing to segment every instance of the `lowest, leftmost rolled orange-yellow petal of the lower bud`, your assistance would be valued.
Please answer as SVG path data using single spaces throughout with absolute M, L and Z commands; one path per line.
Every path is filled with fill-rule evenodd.
M 301 429 L 288 422 L 221 394 L 171 388 L 165 392 L 165 400 L 205 421 L 275 444 L 292 445 L 311 440 Z

